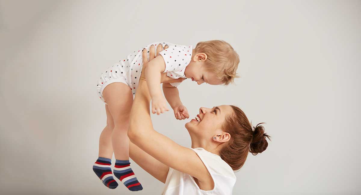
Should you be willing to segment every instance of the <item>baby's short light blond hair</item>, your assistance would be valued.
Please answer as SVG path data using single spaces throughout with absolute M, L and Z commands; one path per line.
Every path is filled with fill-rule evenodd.
M 234 83 L 239 64 L 239 56 L 233 47 L 222 40 L 201 41 L 194 48 L 195 53 L 207 54 L 205 66 L 207 70 L 217 74 L 224 85 Z

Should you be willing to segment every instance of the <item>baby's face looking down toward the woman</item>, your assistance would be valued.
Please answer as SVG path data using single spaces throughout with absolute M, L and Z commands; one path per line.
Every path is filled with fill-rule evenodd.
M 210 85 L 222 85 L 221 80 L 217 78 L 217 74 L 206 70 L 203 63 L 190 63 L 186 67 L 184 75 L 187 78 L 192 79 L 192 81 L 197 82 L 198 85 L 202 83 L 208 83 Z

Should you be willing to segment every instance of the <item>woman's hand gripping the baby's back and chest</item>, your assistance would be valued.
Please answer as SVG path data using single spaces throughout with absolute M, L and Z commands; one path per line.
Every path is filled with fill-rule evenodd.
M 164 49 L 167 49 L 168 45 L 164 46 Z M 151 61 L 152 59 L 155 58 L 154 55 L 154 45 L 151 45 L 150 49 L 149 49 L 149 61 Z M 163 46 L 162 44 L 158 44 L 157 46 L 157 53 L 156 55 L 158 55 L 159 52 L 161 52 L 163 50 Z M 140 75 L 140 79 L 146 81 L 145 79 L 145 68 L 147 68 L 148 65 L 148 58 L 147 58 L 147 49 L 143 50 L 143 69 L 142 69 L 142 74 Z M 175 82 L 182 82 L 186 80 L 186 78 L 178 78 L 178 79 L 173 79 L 167 76 L 167 73 L 161 73 L 161 79 L 160 82 L 161 83 L 175 83 Z M 154 113 L 153 113 L 154 114 Z

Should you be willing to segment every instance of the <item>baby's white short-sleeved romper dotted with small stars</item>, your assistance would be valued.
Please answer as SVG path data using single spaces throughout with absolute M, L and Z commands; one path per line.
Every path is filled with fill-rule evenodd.
M 169 48 L 162 50 L 159 54 L 163 57 L 165 62 L 165 70 L 168 77 L 171 78 L 186 78 L 184 76 L 184 70 L 191 62 L 192 50 L 191 45 L 179 45 L 170 42 L 159 41 L 151 43 L 143 48 L 147 49 L 147 58 L 149 60 L 149 49 L 151 45 L 155 46 L 155 52 L 157 45 L 162 44 L 164 47 L 168 45 Z M 129 86 L 132 90 L 133 98 L 135 96 L 136 89 L 139 84 L 139 78 L 143 67 L 142 49 L 138 49 L 133 53 L 127 55 L 125 58 L 119 60 L 119 62 L 113 64 L 111 67 L 101 73 L 97 82 L 97 94 L 101 101 L 105 104 L 103 98 L 103 90 L 110 83 L 122 82 Z M 177 87 L 180 83 L 171 83 L 172 86 Z

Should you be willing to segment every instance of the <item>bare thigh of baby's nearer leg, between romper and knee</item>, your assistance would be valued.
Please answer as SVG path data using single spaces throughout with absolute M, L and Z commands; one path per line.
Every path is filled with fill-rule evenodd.
M 121 82 L 111 83 L 103 90 L 103 97 L 108 104 L 114 126 L 128 125 L 133 104 L 133 94 L 129 86 Z

